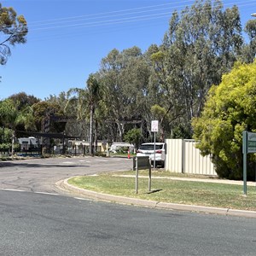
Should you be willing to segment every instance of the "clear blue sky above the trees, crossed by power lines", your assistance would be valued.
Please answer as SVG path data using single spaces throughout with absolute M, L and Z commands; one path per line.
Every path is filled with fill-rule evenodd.
M 21 91 L 42 100 L 73 87 L 84 88 L 112 49 L 161 44 L 174 10 L 194 1 L 166 0 L 14 0 L 0 1 L 24 15 L 26 44 L 11 48 L 0 67 L 0 100 Z M 256 13 L 256 0 L 224 0 L 236 4 L 244 25 Z M 254 18 L 256 19 L 256 18 Z

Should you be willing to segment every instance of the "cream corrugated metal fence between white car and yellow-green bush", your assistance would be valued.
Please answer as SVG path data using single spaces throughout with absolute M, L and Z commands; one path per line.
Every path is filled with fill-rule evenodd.
M 210 156 L 201 156 L 194 140 L 166 140 L 166 171 L 217 175 Z

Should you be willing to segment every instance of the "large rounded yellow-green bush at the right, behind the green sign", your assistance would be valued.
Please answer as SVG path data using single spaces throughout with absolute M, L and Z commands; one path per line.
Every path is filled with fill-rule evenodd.
M 242 131 L 256 131 L 256 61 L 236 63 L 221 84 L 212 86 L 200 118 L 192 121 L 201 153 L 212 154 L 220 177 L 242 177 Z M 254 178 L 250 156 L 248 177 Z M 251 169 L 250 169 L 251 166 Z

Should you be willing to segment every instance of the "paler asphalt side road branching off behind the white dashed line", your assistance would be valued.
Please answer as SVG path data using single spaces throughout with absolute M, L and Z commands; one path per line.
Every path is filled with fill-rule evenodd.
M 131 167 L 132 160 L 128 158 L 90 156 L 0 161 L 0 189 L 55 193 L 55 183 L 63 178 L 126 171 Z

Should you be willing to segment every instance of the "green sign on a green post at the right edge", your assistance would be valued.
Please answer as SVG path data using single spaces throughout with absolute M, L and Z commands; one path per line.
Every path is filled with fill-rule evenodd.
M 242 131 L 243 194 L 247 195 L 247 154 L 256 153 L 256 133 Z

